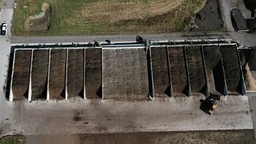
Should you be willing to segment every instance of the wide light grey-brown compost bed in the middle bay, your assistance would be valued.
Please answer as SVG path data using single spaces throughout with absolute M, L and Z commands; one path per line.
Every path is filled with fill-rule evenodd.
M 103 50 L 103 82 L 105 99 L 148 99 L 146 51 Z

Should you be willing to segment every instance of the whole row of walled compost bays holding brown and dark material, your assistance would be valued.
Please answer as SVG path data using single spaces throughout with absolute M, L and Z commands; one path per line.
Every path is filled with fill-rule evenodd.
M 11 102 L 246 94 L 237 43 L 225 39 L 13 49 Z

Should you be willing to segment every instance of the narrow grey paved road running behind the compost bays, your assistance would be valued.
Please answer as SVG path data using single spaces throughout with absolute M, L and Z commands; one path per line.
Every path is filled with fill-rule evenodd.
M 235 42 L 241 41 L 245 46 L 256 46 L 256 34 L 236 33 L 236 32 L 193 32 L 174 34 L 142 34 L 142 38 L 151 40 L 178 40 L 178 39 L 201 39 L 201 38 L 232 38 Z M 12 38 L 15 43 L 64 43 L 64 42 L 134 42 L 136 35 L 93 35 L 93 36 L 51 36 L 51 37 L 17 37 Z

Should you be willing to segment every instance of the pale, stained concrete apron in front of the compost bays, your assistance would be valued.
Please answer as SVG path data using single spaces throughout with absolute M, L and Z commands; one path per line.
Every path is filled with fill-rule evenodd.
M 200 98 L 166 102 L 13 102 L 10 131 L 26 135 L 138 131 L 253 129 L 248 97 L 227 96 L 214 115 L 199 109 Z M 18 123 L 16 123 L 18 122 Z M 15 130 L 15 131 L 14 131 Z

